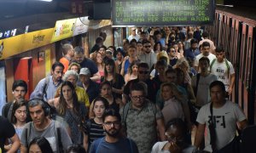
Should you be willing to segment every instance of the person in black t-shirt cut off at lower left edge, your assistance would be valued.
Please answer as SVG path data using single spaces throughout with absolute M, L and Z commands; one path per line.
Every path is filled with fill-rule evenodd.
M 5 152 L 4 143 L 6 139 L 12 141 L 9 152 L 16 152 L 20 148 L 20 139 L 15 133 L 15 127 L 3 116 L 0 116 L 0 125 L 0 148 L 2 152 Z

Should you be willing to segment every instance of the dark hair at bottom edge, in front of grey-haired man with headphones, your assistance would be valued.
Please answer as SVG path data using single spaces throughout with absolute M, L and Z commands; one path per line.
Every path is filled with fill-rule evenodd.
M 38 144 L 40 150 L 42 150 L 43 153 L 52 153 L 53 150 L 50 147 L 49 141 L 45 139 L 44 137 L 36 137 L 32 139 L 31 143 L 29 144 L 29 148 L 32 146 L 32 144 Z

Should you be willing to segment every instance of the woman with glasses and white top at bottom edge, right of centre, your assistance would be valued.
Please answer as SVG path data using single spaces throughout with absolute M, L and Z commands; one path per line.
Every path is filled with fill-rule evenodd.
M 186 124 L 180 118 L 174 118 L 167 123 L 167 141 L 154 144 L 151 153 L 192 153 L 195 146 L 186 144 Z

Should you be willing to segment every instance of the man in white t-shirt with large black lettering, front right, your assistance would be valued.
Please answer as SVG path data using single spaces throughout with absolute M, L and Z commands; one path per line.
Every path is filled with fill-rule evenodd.
M 225 99 L 223 82 L 212 82 L 210 94 L 212 102 L 201 107 L 196 119 L 199 125 L 195 133 L 195 146 L 198 148 L 201 145 L 206 133 L 204 150 L 212 152 L 212 150 L 222 149 L 235 138 L 237 123 L 240 129 L 247 127 L 247 118 L 239 105 Z M 212 142 L 213 134 L 210 134 L 212 132 L 209 130 L 209 125 L 212 125 L 216 138 L 212 139 Z

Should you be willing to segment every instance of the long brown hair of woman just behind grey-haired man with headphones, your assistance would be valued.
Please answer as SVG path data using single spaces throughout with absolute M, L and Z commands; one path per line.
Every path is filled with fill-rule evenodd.
M 65 81 L 65 82 L 62 82 L 61 84 L 61 95 L 60 95 L 60 105 L 59 105 L 59 113 L 61 115 L 64 115 L 66 113 L 66 110 L 67 110 L 67 102 L 66 102 L 66 99 L 64 99 L 64 96 L 63 96 L 63 93 L 62 93 L 62 88 L 64 86 L 68 86 L 69 88 L 72 89 L 73 91 L 73 111 L 75 113 L 78 113 L 79 112 L 79 99 L 78 99 L 78 95 L 76 94 L 76 89 L 73 87 L 73 84 L 72 82 L 69 82 L 69 81 Z

